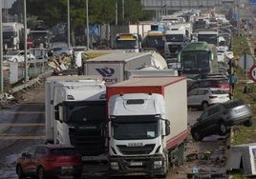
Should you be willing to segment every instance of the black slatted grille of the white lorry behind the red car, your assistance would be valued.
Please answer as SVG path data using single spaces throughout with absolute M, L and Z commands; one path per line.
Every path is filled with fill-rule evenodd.
M 106 152 L 105 137 L 100 130 L 71 131 L 70 141 L 83 156 L 97 156 Z

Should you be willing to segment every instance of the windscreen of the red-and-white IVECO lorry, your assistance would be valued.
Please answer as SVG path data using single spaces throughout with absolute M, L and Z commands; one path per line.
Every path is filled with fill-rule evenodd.
M 117 140 L 153 139 L 160 135 L 159 121 L 112 123 L 112 136 Z

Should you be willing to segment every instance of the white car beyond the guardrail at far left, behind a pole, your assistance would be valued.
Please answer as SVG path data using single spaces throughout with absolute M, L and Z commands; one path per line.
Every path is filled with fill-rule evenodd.
M 32 52 L 27 51 L 28 60 L 34 60 Z M 11 50 L 7 54 L 3 55 L 3 61 L 6 62 L 24 62 L 24 50 Z

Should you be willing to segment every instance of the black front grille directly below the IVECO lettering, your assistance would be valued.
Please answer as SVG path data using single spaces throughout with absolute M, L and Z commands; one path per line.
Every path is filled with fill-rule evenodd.
M 142 147 L 127 147 L 123 145 L 118 145 L 117 148 L 124 155 L 149 154 L 155 148 L 155 145 L 150 144 Z

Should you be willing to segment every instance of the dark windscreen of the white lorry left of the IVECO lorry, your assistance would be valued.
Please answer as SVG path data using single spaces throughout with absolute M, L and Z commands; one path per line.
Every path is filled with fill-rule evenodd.
M 97 123 L 106 119 L 106 106 L 67 106 L 65 108 L 67 116 L 65 121 Z

